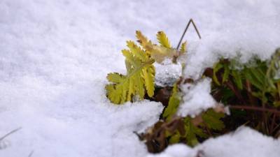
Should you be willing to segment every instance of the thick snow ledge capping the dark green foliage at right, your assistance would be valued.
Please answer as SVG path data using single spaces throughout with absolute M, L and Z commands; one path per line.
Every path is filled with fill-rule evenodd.
M 280 14 L 248 19 L 241 22 L 239 27 L 228 25 L 221 31 L 188 44 L 190 47 L 184 73 L 186 77 L 198 78 L 204 68 L 213 66 L 219 57 L 240 56 L 241 63 L 253 56 L 269 59 L 280 47 L 279 34 Z

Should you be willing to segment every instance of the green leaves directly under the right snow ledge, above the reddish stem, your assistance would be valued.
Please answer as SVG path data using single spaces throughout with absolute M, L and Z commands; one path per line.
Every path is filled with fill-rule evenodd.
M 279 102 L 276 97 L 280 96 L 279 61 L 280 50 L 277 50 L 269 61 L 253 57 L 238 68 L 235 66 L 235 59 L 221 59 L 214 64 L 212 79 L 216 85 L 228 87 L 236 95 L 247 92 L 260 100 L 262 105 L 269 101 L 274 101 L 276 105 L 278 103 L 275 103 L 275 100 Z M 241 99 L 241 95 L 237 97 Z

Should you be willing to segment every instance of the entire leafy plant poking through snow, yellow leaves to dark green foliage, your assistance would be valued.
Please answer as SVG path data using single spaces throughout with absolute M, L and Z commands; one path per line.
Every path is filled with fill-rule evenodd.
M 195 84 L 197 80 L 181 77 L 173 87 L 155 88 L 153 63 L 162 63 L 167 58 L 176 63 L 177 58 L 186 52 L 186 43 L 181 45 L 183 36 L 176 49 L 163 31 L 157 34 L 159 45 L 153 44 L 140 31 L 136 32 L 136 37 L 140 46 L 127 41 L 128 49 L 122 51 L 126 75 L 109 73 L 107 79 L 111 83 L 106 85 L 106 95 L 115 104 L 148 98 L 165 105 L 160 120 L 139 135 L 146 141 L 148 151 L 160 152 L 169 144 L 179 142 L 193 147 L 241 125 L 251 126 L 273 137 L 280 136 L 280 49 L 267 61 L 253 57 L 248 63 L 239 63 L 238 58 L 221 58 L 204 71 L 202 77 L 213 80 L 212 96 L 230 108 L 230 116 L 225 117 L 223 106 L 216 106 L 196 117 L 177 117 L 183 96 L 181 84 Z

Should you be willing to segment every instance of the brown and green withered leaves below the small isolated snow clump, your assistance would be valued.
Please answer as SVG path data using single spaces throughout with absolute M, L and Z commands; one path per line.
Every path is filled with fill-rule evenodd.
M 178 84 L 174 84 L 169 103 L 162 114 L 163 121 L 159 121 L 144 135 L 149 151 L 159 152 L 168 144 L 179 142 L 193 147 L 210 137 L 211 130 L 222 130 L 225 127 L 221 121 L 225 116 L 223 108 L 209 109 L 196 117 L 176 117 L 180 100 Z

